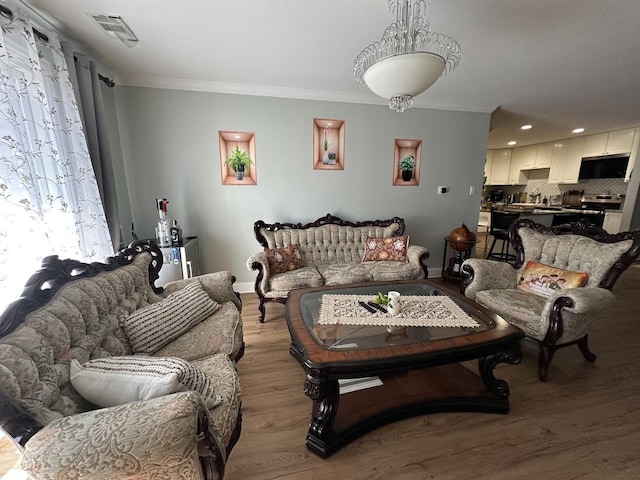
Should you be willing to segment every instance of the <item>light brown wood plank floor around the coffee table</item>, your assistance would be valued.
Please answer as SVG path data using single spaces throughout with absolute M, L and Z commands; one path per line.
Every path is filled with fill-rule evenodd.
M 238 371 L 244 421 L 225 478 L 640 478 L 639 286 L 635 265 L 614 288 L 620 301 L 590 336 L 594 364 L 577 347 L 560 350 L 549 381 L 540 383 L 537 349 L 526 341 L 520 365 L 499 365 L 496 376 L 511 387 L 509 414 L 414 417 L 379 428 L 326 460 L 304 445 L 311 400 L 303 393 L 302 368 L 288 353 L 284 307 L 268 305 L 267 322 L 260 324 L 255 295 L 243 294 L 246 353 Z

